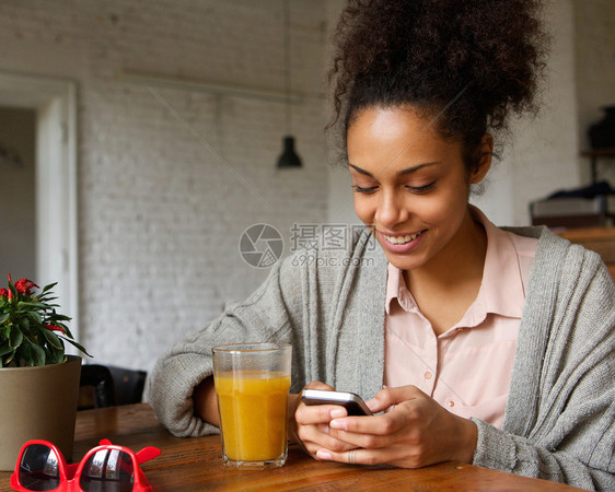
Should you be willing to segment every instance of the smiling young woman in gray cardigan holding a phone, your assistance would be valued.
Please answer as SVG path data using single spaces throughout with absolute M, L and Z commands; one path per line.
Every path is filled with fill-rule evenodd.
M 279 262 L 158 363 L 150 401 L 174 434 L 217 431 L 211 347 L 283 341 L 292 438 L 316 459 L 456 459 L 615 488 L 606 268 L 546 229 L 504 231 L 468 204 L 491 165 L 491 133 L 511 109 L 533 107 L 536 10 L 531 0 L 349 2 L 335 107 L 367 227 L 345 250 Z M 378 414 L 306 407 L 305 385 L 358 393 Z

